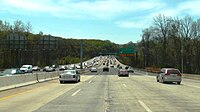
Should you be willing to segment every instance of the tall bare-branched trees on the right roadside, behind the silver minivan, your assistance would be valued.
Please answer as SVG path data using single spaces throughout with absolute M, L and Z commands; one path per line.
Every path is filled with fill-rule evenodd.
M 175 67 L 186 73 L 200 73 L 200 19 L 159 14 L 153 21 L 137 43 L 140 59 L 136 66 Z

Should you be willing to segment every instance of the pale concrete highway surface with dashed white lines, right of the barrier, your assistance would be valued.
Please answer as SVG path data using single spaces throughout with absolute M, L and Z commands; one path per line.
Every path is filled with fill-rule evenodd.
M 0 112 L 200 112 L 200 81 L 181 85 L 117 69 L 81 75 L 80 83 L 52 80 L 0 92 Z

